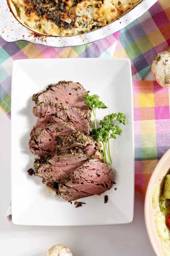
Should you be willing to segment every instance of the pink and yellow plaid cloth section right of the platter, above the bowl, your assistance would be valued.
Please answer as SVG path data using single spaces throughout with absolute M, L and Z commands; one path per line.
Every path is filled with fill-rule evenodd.
M 152 172 L 170 148 L 170 90 L 156 81 L 133 82 L 135 189 L 144 197 Z

